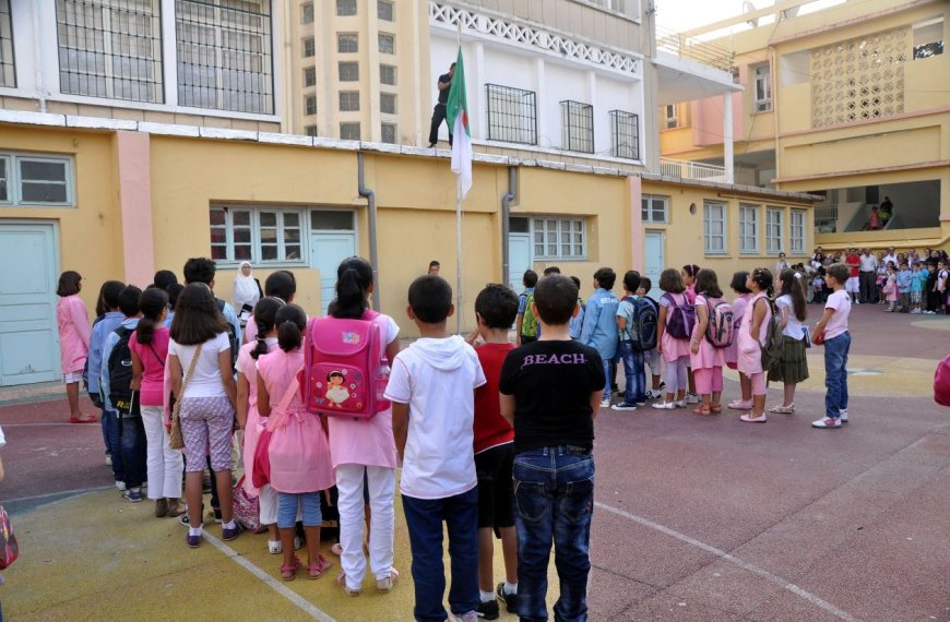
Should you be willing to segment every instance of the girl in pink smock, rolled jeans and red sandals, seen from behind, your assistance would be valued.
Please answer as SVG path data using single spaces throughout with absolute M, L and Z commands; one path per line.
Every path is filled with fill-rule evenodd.
M 297 513 L 302 511 L 307 535 L 307 572 L 319 578 L 332 564 L 320 554 L 320 493 L 335 482 L 330 464 L 330 445 L 319 415 L 304 407 L 300 374 L 304 370 L 304 332 L 307 314 L 296 304 L 285 304 L 274 319 L 278 349 L 258 359 L 258 411 L 272 431 L 270 444 L 271 486 L 277 491 L 277 528 L 284 563 L 281 578 L 292 581 L 300 567 L 294 554 Z M 293 392 L 286 410 L 280 406 Z

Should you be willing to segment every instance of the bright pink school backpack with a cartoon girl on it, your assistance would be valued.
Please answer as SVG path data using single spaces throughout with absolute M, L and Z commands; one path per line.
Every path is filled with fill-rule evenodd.
M 331 417 L 369 419 L 389 408 L 383 398 L 389 363 L 380 314 L 363 320 L 314 318 L 304 337 L 307 410 Z

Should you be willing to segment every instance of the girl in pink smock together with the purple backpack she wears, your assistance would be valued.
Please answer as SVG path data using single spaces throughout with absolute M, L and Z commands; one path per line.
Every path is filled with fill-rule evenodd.
M 689 363 L 689 336 L 696 324 L 694 308 L 686 296 L 686 285 L 679 271 L 664 270 L 660 274 L 660 316 L 656 321 L 656 351 L 666 363 L 666 399 L 654 408 L 673 410 L 686 407 L 689 386 L 686 368 Z

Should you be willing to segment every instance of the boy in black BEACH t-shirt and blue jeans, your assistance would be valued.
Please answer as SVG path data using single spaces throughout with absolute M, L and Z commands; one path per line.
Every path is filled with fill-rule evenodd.
M 551 538 L 560 579 L 558 620 L 587 612 L 594 510 L 594 416 L 606 378 L 597 350 L 571 340 L 578 310 L 570 278 L 541 279 L 534 291 L 537 342 L 512 350 L 501 368 L 501 415 L 514 428 L 518 595 L 521 620 L 547 620 Z

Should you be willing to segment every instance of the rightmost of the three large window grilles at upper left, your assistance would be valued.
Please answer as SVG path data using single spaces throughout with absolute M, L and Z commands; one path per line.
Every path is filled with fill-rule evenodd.
M 270 0 L 176 0 L 178 103 L 274 111 Z

